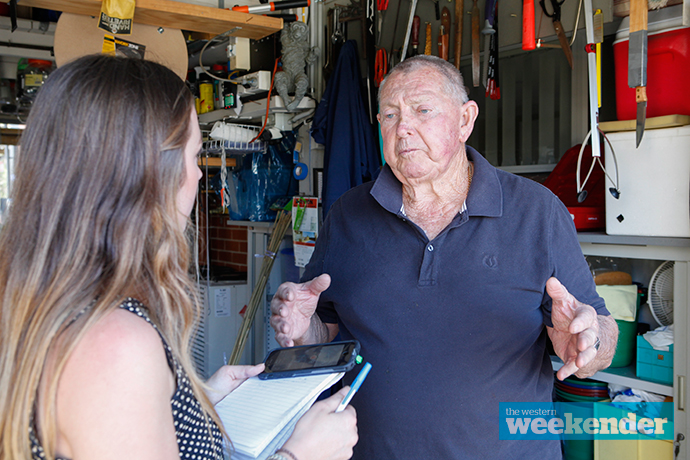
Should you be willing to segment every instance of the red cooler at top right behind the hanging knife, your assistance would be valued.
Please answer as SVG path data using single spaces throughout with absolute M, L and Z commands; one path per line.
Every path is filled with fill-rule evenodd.
M 682 27 L 681 7 L 649 12 L 647 118 L 690 115 L 690 27 Z M 613 43 L 619 120 L 637 116 L 635 89 L 628 87 L 629 24 L 630 18 L 624 18 Z

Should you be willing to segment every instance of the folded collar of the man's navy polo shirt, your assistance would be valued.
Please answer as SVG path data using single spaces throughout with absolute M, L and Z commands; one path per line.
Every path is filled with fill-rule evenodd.
M 467 157 L 474 164 L 472 185 L 467 196 L 467 211 L 470 216 L 500 217 L 503 214 L 503 188 L 494 168 L 479 152 L 465 147 Z M 395 177 L 388 164 L 381 168 L 371 188 L 371 196 L 388 212 L 402 214 L 402 184 Z

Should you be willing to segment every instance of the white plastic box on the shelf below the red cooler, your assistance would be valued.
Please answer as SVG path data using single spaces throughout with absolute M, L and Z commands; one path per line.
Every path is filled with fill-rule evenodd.
M 609 235 L 690 237 L 690 125 L 645 130 L 639 148 L 635 131 L 608 133 L 618 160 L 620 198 L 606 183 Z M 616 180 L 611 147 L 606 170 Z

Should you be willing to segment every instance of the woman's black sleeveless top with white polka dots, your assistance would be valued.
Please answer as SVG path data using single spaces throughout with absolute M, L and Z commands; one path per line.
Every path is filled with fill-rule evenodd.
M 160 335 L 160 331 L 149 319 L 144 306 L 137 300 L 128 298 L 120 305 L 120 308 L 128 310 L 145 319 Z M 177 390 L 170 399 L 170 405 L 175 424 L 177 446 L 180 451 L 180 459 L 191 460 L 223 460 L 223 438 L 218 426 L 209 418 L 211 431 L 204 419 L 204 411 L 201 404 L 194 396 L 192 386 L 187 373 L 175 359 L 172 350 L 161 335 L 168 365 L 177 376 Z M 43 447 L 38 442 L 34 428 L 29 428 L 33 460 L 44 459 Z M 56 460 L 68 460 L 56 458 Z

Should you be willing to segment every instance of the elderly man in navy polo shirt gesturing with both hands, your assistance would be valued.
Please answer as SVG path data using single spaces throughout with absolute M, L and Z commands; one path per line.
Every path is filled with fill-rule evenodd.
M 356 459 L 559 458 L 558 441 L 499 440 L 499 403 L 551 401 L 547 336 L 561 379 L 613 356 L 567 209 L 465 146 L 477 114 L 451 64 L 396 66 L 380 88 L 386 165 L 331 208 L 310 281 L 272 301 L 283 346 L 362 343 Z

